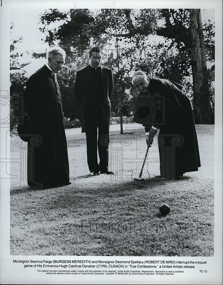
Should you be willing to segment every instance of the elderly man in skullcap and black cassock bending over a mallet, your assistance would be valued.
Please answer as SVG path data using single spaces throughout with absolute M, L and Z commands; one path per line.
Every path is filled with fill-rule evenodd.
M 149 78 L 137 71 L 132 83 L 140 91 L 134 102 L 134 122 L 145 127 L 151 146 L 157 133 L 162 180 L 175 180 L 201 166 L 191 104 L 182 86 L 166 79 Z

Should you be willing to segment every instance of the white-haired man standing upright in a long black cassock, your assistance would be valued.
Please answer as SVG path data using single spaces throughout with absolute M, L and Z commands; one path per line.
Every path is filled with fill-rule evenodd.
M 47 51 L 48 62 L 30 76 L 24 93 L 29 116 L 27 176 L 32 188 L 69 184 L 69 162 L 60 87 L 56 74 L 66 53 L 61 48 Z

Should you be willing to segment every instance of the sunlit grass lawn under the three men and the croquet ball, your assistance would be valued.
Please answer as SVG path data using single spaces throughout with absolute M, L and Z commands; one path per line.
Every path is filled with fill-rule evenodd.
M 89 177 L 85 134 L 70 134 L 73 184 L 47 190 L 30 190 L 20 181 L 21 146 L 11 142 L 11 174 L 18 175 L 11 180 L 11 255 L 213 256 L 214 131 L 212 125 L 196 130 L 201 168 L 168 182 L 154 178 L 156 143 L 149 149 L 145 181 L 132 181 L 147 148 L 143 129 L 111 131 L 111 176 Z M 159 213 L 162 203 L 170 205 L 165 217 Z

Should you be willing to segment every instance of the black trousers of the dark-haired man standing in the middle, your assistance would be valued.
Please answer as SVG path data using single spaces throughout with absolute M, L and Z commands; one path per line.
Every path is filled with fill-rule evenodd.
M 86 142 L 87 164 L 90 172 L 105 173 L 109 170 L 109 126 L 110 121 L 105 122 L 100 107 L 83 109 Z M 98 133 L 98 139 L 97 139 Z M 97 160 L 97 149 L 99 164 Z

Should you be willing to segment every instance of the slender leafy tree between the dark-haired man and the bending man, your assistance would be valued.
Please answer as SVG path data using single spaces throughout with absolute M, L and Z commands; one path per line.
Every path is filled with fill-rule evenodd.
M 122 115 L 128 115 L 130 96 L 126 89 L 132 88 L 130 74 L 143 60 L 140 53 L 148 46 L 147 37 L 156 30 L 158 18 L 155 9 L 101 9 L 95 17 L 96 25 L 103 28 L 94 43 L 112 48 L 110 56 L 107 52 L 107 65 L 114 74 L 112 111 L 119 112 L 121 134 Z

